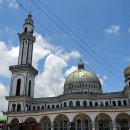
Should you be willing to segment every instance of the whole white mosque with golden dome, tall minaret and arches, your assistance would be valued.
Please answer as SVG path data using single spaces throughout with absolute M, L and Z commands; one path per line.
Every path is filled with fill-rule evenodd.
M 97 75 L 85 69 L 81 60 L 78 69 L 66 78 L 62 95 L 34 98 L 38 71 L 32 66 L 33 30 L 29 13 L 23 32 L 18 34 L 18 64 L 9 67 L 12 76 L 5 114 L 10 130 L 32 130 L 29 122 L 37 124 L 37 130 L 129 130 L 130 66 L 124 69 L 122 91 L 104 93 Z

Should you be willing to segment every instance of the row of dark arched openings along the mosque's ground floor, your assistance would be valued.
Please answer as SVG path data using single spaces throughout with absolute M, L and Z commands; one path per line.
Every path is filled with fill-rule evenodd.
M 19 120 L 14 118 L 11 123 L 14 122 L 19 123 Z M 120 113 L 116 116 L 115 121 L 112 121 L 108 114 L 100 113 L 92 122 L 88 115 L 80 113 L 73 118 L 72 122 L 69 122 L 69 118 L 61 114 L 56 116 L 53 122 L 51 122 L 49 116 L 41 117 L 39 122 L 35 118 L 29 117 L 24 122 L 27 124 L 22 127 L 27 130 L 129 130 L 130 115 Z M 10 130 L 24 130 L 18 125 L 10 128 Z

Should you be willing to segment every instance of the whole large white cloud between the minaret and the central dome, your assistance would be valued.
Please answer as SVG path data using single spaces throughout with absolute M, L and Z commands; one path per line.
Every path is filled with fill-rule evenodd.
M 39 55 L 39 57 L 41 56 L 41 58 L 37 60 L 34 56 L 34 62 L 45 58 L 43 70 L 36 77 L 35 97 L 48 97 L 62 94 L 65 81 L 63 69 L 68 65 L 67 63 L 71 58 L 80 57 L 79 52 L 75 50 L 66 52 L 64 48 L 56 47 L 48 43 L 40 35 L 37 36 L 35 45 L 36 44 L 40 44 L 40 52 L 45 51 L 46 53 L 40 53 L 38 51 L 39 49 L 34 47 L 38 51 L 37 55 Z M 34 55 L 36 50 L 34 50 Z M 38 62 L 36 62 L 36 64 L 38 64 Z

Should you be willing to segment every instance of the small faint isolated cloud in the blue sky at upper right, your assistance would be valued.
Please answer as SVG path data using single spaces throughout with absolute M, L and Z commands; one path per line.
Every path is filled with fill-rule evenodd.
M 120 30 L 119 25 L 111 25 L 108 29 L 105 30 L 107 34 L 118 34 Z

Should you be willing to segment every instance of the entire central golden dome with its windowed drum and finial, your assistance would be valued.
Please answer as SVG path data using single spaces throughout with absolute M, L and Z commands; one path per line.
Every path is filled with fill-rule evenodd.
M 64 93 L 102 93 L 101 83 L 96 74 L 84 69 L 84 64 L 80 61 L 78 70 L 66 78 Z

